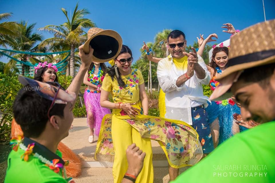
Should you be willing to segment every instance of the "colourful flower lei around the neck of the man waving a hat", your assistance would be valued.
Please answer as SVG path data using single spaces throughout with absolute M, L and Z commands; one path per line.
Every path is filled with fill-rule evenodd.
M 23 136 L 18 135 L 17 138 L 16 137 L 12 138 L 10 141 L 10 144 L 13 146 L 12 149 L 15 152 L 17 152 L 18 147 L 25 151 L 24 154 L 21 156 L 22 160 L 27 162 L 29 160 L 29 156 L 34 156 L 34 157 L 38 158 L 41 162 L 45 163 L 45 165 L 48 166 L 51 170 L 53 170 L 55 173 L 59 173 L 60 168 L 63 168 L 64 177 L 65 177 L 66 181 L 70 182 L 70 183 L 74 183 L 74 181 L 72 180 L 71 177 L 67 178 L 66 169 L 64 168 L 64 166 L 68 166 L 68 164 L 69 164 L 68 160 L 65 161 L 64 166 L 62 163 L 58 163 L 59 159 L 53 159 L 50 161 L 50 160 L 44 158 L 43 156 L 41 156 L 40 154 L 38 154 L 37 152 L 33 153 L 33 148 L 34 148 L 35 143 L 29 144 L 28 147 L 26 147 L 23 144 L 23 139 L 24 139 Z

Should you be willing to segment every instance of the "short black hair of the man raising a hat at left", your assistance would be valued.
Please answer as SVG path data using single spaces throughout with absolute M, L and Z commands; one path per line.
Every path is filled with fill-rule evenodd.
M 13 103 L 15 121 L 21 126 L 24 136 L 37 138 L 45 130 L 48 122 L 48 110 L 51 100 L 42 98 L 30 85 L 19 90 Z M 64 117 L 66 104 L 54 104 L 50 110 L 50 116 Z

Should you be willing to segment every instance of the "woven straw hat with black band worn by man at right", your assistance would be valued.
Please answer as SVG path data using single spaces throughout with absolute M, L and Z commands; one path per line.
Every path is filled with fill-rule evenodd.
M 258 23 L 231 37 L 228 67 L 215 78 L 220 84 L 210 100 L 223 100 L 233 94 L 230 88 L 243 70 L 275 63 L 275 19 Z

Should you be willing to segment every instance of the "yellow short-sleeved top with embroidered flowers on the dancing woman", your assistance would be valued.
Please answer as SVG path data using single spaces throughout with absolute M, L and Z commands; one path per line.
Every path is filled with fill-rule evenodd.
M 133 103 L 139 101 L 139 85 L 144 83 L 141 71 L 139 69 L 132 69 L 132 72 L 130 74 L 121 76 L 121 78 L 125 83 L 125 87 L 119 86 L 116 77 L 114 77 L 112 80 L 111 76 L 109 76 L 109 74 L 106 74 L 103 79 L 101 88 L 111 93 L 115 103 Z

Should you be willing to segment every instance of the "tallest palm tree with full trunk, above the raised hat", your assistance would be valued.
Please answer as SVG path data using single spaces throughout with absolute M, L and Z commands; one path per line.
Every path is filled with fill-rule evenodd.
M 84 15 L 89 14 L 87 9 L 77 9 L 78 3 L 75 6 L 74 13 L 72 17 L 68 17 L 68 12 L 66 9 L 61 8 L 62 12 L 67 18 L 67 21 L 62 25 L 46 25 L 40 28 L 41 31 L 48 31 L 54 34 L 54 37 L 45 39 L 40 43 L 39 46 L 58 46 L 67 45 L 70 48 L 70 75 L 74 77 L 75 67 L 74 67 L 74 51 L 77 46 L 87 40 L 87 35 L 82 28 L 95 27 L 90 19 L 83 18 Z

